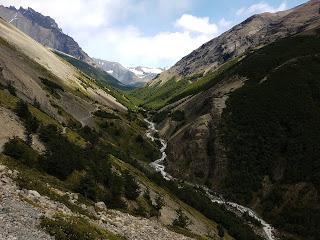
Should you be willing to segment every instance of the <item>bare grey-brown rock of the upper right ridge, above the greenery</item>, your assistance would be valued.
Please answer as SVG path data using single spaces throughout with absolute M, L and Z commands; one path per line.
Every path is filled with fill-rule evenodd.
M 319 0 L 291 10 L 254 15 L 182 58 L 150 83 L 205 74 L 250 49 L 274 42 L 319 25 Z

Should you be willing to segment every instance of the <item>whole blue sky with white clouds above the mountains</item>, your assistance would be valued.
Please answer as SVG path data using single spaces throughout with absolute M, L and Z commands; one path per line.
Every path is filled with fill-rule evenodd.
M 253 14 L 306 0 L 0 0 L 56 20 L 91 57 L 170 67 Z

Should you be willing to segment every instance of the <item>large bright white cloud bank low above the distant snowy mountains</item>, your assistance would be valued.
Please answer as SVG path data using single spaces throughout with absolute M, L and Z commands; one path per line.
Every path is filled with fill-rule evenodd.
M 149 65 L 163 66 L 173 64 L 180 58 L 209 41 L 212 35 L 183 32 L 160 32 L 145 36 L 134 27 L 125 29 L 105 29 L 94 36 L 85 46 L 89 52 L 100 49 L 97 57 L 120 61 L 127 66 Z

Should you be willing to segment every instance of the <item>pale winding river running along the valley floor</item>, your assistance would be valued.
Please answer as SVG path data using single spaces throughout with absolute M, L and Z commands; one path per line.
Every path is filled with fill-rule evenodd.
M 174 178 L 165 171 L 165 159 L 167 157 L 167 154 L 166 154 L 167 142 L 162 138 L 155 137 L 155 134 L 158 133 L 158 130 L 155 127 L 155 123 L 149 121 L 148 119 L 144 119 L 144 121 L 148 124 L 148 130 L 146 131 L 146 136 L 153 142 L 158 140 L 161 143 L 161 148 L 160 148 L 161 158 L 150 163 L 150 166 L 153 167 L 157 172 L 160 172 L 163 178 L 166 179 L 167 181 L 174 180 Z M 254 212 L 252 209 L 239 205 L 234 202 L 226 201 L 221 196 L 214 195 L 205 186 L 195 185 L 192 183 L 188 183 L 188 184 L 195 188 L 202 189 L 202 191 L 205 192 L 206 196 L 211 200 L 211 202 L 224 205 L 229 211 L 232 211 L 237 215 L 241 216 L 243 213 L 248 213 L 251 217 L 253 217 L 258 222 L 260 222 L 260 224 L 262 225 L 263 231 L 265 233 L 265 238 L 267 240 L 277 240 L 276 236 L 274 235 L 275 229 L 266 221 L 264 221 L 261 217 L 259 217 L 259 215 L 256 212 Z

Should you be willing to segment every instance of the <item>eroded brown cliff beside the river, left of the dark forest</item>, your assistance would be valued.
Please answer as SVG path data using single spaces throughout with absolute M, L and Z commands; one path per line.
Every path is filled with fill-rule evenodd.
M 167 119 L 161 134 L 168 139 L 167 165 L 175 177 L 204 184 L 220 184 L 227 160 L 219 130 L 228 95 L 243 86 L 245 78 L 233 77 L 166 110 L 183 111 L 181 123 Z

